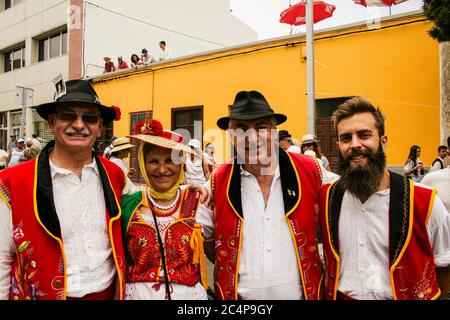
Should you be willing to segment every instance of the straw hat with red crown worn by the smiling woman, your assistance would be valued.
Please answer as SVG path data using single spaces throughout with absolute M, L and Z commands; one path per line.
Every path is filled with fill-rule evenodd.
M 130 137 L 161 148 L 192 153 L 192 150 L 183 144 L 182 135 L 173 131 L 164 130 L 161 122 L 158 120 L 147 120 L 137 123 L 134 129 L 134 135 Z

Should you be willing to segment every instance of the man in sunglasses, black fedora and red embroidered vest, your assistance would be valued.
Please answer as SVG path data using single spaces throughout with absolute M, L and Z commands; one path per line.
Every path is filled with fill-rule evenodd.
M 55 137 L 0 173 L 0 299 L 122 299 L 122 170 L 93 152 L 117 107 L 87 80 L 37 106 Z M 23 178 L 22 178 L 23 177 Z

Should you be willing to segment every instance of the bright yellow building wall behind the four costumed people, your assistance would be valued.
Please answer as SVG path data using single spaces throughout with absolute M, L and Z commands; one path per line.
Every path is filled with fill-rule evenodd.
M 316 99 L 363 95 L 386 114 L 388 165 L 400 166 L 409 147 L 430 165 L 439 145 L 439 49 L 422 16 L 316 35 Z M 294 45 L 292 45 L 294 44 Z M 261 91 L 288 116 L 279 129 L 307 130 L 305 39 L 283 38 L 97 78 L 105 104 L 122 109 L 116 135 L 129 134 L 130 112 L 153 110 L 171 126 L 171 109 L 203 106 L 204 132 L 217 129 L 240 90 Z M 303 48 L 303 50 L 302 50 Z M 209 142 L 205 138 L 205 142 Z M 217 149 L 217 144 L 216 144 Z M 220 157 L 225 150 L 217 150 Z

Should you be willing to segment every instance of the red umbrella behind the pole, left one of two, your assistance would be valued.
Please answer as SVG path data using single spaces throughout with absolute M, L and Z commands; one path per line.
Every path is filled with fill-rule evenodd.
M 331 17 L 335 9 L 336 7 L 332 4 L 314 1 L 314 23 Z M 300 1 L 281 12 L 280 22 L 294 26 L 306 24 L 306 2 Z

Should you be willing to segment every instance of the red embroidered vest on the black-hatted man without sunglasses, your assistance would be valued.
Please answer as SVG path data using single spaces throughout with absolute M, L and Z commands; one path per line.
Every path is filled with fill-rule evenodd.
M 321 184 L 319 164 L 310 157 L 280 150 L 280 177 L 286 221 L 296 248 L 304 297 L 321 299 L 322 264 L 317 246 L 318 201 Z M 240 166 L 219 167 L 211 179 L 214 198 L 216 298 L 238 299 L 239 256 L 242 225 Z

